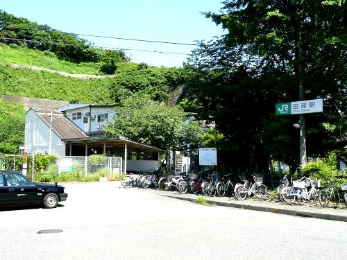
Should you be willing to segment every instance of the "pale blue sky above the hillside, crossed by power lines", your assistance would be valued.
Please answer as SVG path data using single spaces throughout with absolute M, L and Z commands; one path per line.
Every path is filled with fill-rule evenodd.
M 222 7 L 219 0 L 1 0 L 0 4 L 0 10 L 15 17 L 66 33 L 185 44 L 223 35 L 221 26 L 201 14 Z M 155 67 L 182 67 L 186 54 L 196 48 L 83 35 L 78 36 L 103 49 L 131 49 L 125 51 L 131 61 Z

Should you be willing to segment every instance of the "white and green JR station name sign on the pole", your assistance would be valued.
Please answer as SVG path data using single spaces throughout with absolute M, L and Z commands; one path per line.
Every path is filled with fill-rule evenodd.
M 323 99 L 312 99 L 310 101 L 295 101 L 276 104 L 276 115 L 285 114 L 310 114 L 323 112 Z

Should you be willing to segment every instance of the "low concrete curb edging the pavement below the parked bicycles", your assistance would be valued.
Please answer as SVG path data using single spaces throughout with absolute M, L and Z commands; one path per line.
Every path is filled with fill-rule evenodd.
M 190 202 L 195 202 L 195 198 L 187 198 L 186 196 L 176 196 L 173 194 L 164 194 L 160 193 L 160 196 L 165 196 L 169 198 L 176 198 L 178 200 L 187 200 Z M 214 197 L 218 198 L 218 197 Z M 322 213 L 322 212 L 315 212 L 315 211 L 309 211 L 305 209 L 285 209 L 283 207 L 277 207 L 280 205 L 273 205 L 274 207 L 268 207 L 268 206 L 262 206 L 262 205 L 249 205 L 249 204 L 243 204 L 242 202 L 238 201 L 235 202 L 222 202 L 218 200 L 209 200 L 206 198 L 206 201 L 210 205 L 217 205 L 222 207 L 235 207 L 237 209 L 250 209 L 250 210 L 256 210 L 256 211 L 265 211 L 270 213 L 276 213 L 276 214 L 285 214 L 290 216 L 298 216 L 298 217 L 304 217 L 304 218 L 319 218 L 319 219 L 325 219 L 325 220 L 335 220 L 335 221 L 342 221 L 347 222 L 347 214 L 339 215 L 339 214 L 330 214 L 330 213 Z M 338 209 L 337 209 L 338 210 Z

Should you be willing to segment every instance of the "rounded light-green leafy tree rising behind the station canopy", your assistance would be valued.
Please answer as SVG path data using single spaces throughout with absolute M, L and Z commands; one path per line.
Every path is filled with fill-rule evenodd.
M 203 133 L 201 122 L 180 107 L 167 107 L 149 96 L 132 96 L 117 107 L 114 121 L 105 129 L 106 135 L 121 135 L 158 148 L 198 144 Z

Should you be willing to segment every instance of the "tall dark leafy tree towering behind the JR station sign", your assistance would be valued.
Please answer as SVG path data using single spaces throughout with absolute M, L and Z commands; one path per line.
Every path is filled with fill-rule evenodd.
M 345 1 L 223 4 L 221 13 L 205 15 L 226 35 L 201 42 L 186 67 L 191 71 L 186 109 L 205 119 L 214 116 L 237 164 L 265 168 L 271 156 L 295 167 L 298 132 L 292 124 L 298 119 L 274 116 L 274 105 L 297 101 L 299 93 L 324 98 L 325 111 L 307 121 L 308 151 L 319 155 L 343 147 L 346 135 L 328 138 L 324 122 L 340 125 L 334 104 L 347 103 Z M 343 125 L 346 129 L 346 121 Z

